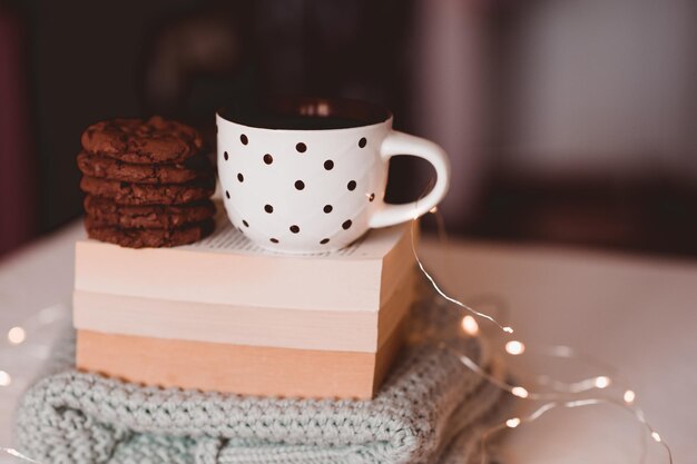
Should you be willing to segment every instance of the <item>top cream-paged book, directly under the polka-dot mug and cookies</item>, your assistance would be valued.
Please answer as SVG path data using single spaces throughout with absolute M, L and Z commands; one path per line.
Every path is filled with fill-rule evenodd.
M 214 234 L 175 248 L 76 244 L 78 293 L 236 307 L 377 312 L 414 265 L 411 225 L 372 229 L 348 248 L 279 255 L 251 244 L 218 206 Z

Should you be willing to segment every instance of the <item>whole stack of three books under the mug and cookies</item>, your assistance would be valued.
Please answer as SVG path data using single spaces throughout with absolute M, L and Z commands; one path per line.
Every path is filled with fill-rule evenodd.
M 313 256 L 257 248 L 223 213 L 193 245 L 80 240 L 77 367 L 163 387 L 371 398 L 399 351 L 414 279 L 409 224 Z

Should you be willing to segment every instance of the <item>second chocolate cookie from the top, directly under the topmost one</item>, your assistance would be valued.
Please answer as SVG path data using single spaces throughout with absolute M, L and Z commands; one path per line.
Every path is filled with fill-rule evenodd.
M 78 168 L 86 176 L 140 184 L 184 184 L 214 177 L 213 165 L 203 155 L 181 164 L 137 165 L 81 151 Z

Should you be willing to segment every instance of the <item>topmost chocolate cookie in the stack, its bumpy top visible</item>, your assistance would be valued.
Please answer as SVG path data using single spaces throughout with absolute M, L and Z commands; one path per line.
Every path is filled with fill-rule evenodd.
M 196 129 L 159 116 L 96 122 L 85 130 L 81 142 L 92 155 L 135 164 L 181 162 L 203 148 Z

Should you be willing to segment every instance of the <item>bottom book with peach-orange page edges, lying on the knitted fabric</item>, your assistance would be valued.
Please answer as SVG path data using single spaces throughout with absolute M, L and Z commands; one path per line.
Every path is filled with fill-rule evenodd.
M 78 330 L 77 366 L 128 382 L 240 395 L 371 398 L 401 340 L 376 353 L 291 349 Z

